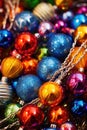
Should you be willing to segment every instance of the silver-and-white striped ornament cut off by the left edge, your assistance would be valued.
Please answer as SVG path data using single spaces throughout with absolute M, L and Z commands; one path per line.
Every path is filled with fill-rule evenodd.
M 3 79 L 5 78 L 0 81 L 0 106 L 6 105 L 12 99 L 12 88 Z

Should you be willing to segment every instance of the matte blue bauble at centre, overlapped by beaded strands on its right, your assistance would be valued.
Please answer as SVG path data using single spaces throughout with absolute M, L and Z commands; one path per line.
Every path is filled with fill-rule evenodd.
M 60 61 L 55 57 L 44 57 L 37 66 L 37 75 L 43 80 L 51 79 L 55 71 L 61 66 Z

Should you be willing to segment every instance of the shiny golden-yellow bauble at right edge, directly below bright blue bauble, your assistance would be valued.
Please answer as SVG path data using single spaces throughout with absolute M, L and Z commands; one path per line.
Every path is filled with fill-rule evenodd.
M 78 44 L 82 44 L 87 39 L 87 25 L 80 25 L 75 31 L 74 31 L 74 37 L 78 37 Z

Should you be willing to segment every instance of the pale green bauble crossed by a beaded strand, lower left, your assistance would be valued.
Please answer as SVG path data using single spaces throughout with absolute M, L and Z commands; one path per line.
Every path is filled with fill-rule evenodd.
M 13 113 L 16 113 L 20 107 L 21 107 L 20 104 L 14 104 L 14 103 L 7 105 L 7 107 L 5 109 L 5 117 L 8 117 L 8 116 L 12 115 Z M 13 115 L 11 118 L 8 119 L 8 122 L 13 123 L 16 120 L 17 120 L 17 117 L 15 115 Z

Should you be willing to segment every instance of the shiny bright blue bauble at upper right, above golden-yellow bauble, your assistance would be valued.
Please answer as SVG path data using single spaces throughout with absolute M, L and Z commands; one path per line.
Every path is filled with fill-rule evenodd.
M 76 29 L 78 26 L 82 24 L 87 24 L 87 18 L 84 14 L 77 14 L 71 20 L 71 27 Z

